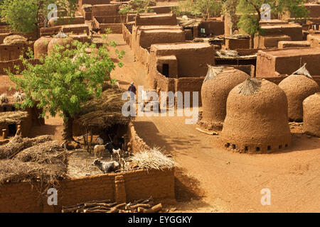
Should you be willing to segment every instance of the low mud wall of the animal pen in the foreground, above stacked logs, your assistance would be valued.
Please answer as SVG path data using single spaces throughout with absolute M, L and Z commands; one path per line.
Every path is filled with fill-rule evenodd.
M 115 189 L 115 179 L 124 179 L 125 193 Z M 153 196 L 157 201 L 174 201 L 174 170 L 135 170 L 63 179 L 58 188 L 58 205 L 48 206 L 40 197 L 38 183 L 8 183 L 0 186 L 0 212 L 60 212 L 62 206 L 83 201 L 132 201 Z

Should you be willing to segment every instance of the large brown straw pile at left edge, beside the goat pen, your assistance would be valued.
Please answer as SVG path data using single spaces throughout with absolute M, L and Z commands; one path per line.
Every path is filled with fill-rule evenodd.
M 41 138 L 22 139 L 16 137 L 11 140 L 9 146 L 14 150 L 16 150 L 16 146 L 13 144 L 18 141 L 21 143 L 19 148 L 22 148 L 13 159 L 0 160 L 0 184 L 40 181 L 49 187 L 49 185 L 57 183 L 61 177 L 65 177 L 68 154 L 60 148 L 58 141 L 48 139 L 49 137 L 45 135 Z M 2 145 L 0 148 L 2 152 L 8 150 L 6 145 Z

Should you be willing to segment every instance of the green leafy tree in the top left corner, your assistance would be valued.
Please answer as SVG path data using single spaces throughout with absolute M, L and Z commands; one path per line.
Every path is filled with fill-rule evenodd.
M 0 13 L 12 30 L 31 33 L 38 31 L 39 26 L 46 23 L 50 12 L 49 4 L 56 4 L 61 15 L 74 16 L 76 2 L 77 0 L 3 0 Z

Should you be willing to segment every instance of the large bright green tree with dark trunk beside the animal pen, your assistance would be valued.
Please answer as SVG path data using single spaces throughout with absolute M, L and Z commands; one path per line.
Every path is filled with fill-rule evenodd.
M 110 42 L 110 45 L 115 45 Z M 32 65 L 27 59 L 23 60 L 26 70 L 17 77 L 9 72 L 11 81 L 16 88 L 23 90 L 26 99 L 18 108 L 37 106 L 43 109 L 41 117 L 46 114 L 63 118 L 63 141 L 70 143 L 73 140 L 73 118 L 82 104 L 92 96 L 100 96 L 105 80 L 110 80 L 110 72 L 116 65 L 109 57 L 106 46 L 98 51 L 87 53 L 87 48 L 96 48 L 95 45 L 82 44 L 75 40 L 72 46 L 55 45 L 55 51 L 41 59 L 41 64 Z M 119 59 L 124 51 L 116 50 Z M 122 67 L 122 62 L 118 63 Z M 114 82 L 111 79 L 111 82 Z

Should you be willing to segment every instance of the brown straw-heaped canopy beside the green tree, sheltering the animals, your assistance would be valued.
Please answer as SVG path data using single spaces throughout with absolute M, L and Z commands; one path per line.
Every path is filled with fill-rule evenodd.
M 107 85 L 99 98 L 87 101 L 82 106 L 80 114 L 75 118 L 80 126 L 85 128 L 109 128 L 114 124 L 127 125 L 131 117 L 122 115 L 123 90 L 116 86 Z

